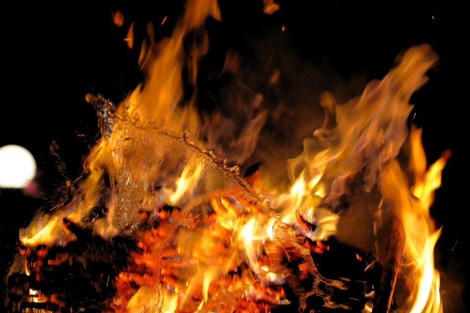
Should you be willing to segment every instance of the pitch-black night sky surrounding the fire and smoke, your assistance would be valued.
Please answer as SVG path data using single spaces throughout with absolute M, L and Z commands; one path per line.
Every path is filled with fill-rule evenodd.
M 181 2 L 181 1 L 178 1 Z M 463 147 L 468 131 L 464 110 L 467 102 L 468 62 L 464 41 L 468 24 L 460 17 L 463 8 L 450 4 L 427 3 L 421 8 L 386 2 L 369 7 L 355 1 L 282 1 L 274 16 L 263 15 L 262 1 L 220 1 L 224 25 L 230 36 L 220 44 L 243 50 L 244 35 L 262 36 L 263 27 L 286 26 L 298 57 L 305 62 L 334 69 L 350 79 L 356 73 L 381 78 L 393 65 L 400 51 L 411 45 L 429 43 L 440 55 L 439 65 L 430 71 L 429 82 L 416 92 L 414 123 L 423 127 L 428 162 L 446 149 L 452 157 L 443 173 L 443 186 L 431 208 L 443 233 L 437 259 L 450 279 L 465 282 L 468 260 L 468 222 L 463 218 L 463 197 L 468 186 Z M 236 3 L 232 3 L 236 2 Z M 246 2 L 244 5 L 243 2 Z M 259 2 L 259 3 L 258 3 Z M 249 3 L 249 5 L 248 5 Z M 387 4 L 388 3 L 388 4 Z M 76 178 L 82 156 L 97 133 L 96 115 L 85 101 L 88 92 L 100 92 L 116 102 L 141 81 L 137 67 L 138 49 L 129 50 L 122 40 L 130 21 L 136 21 L 136 43 L 145 34 L 146 21 L 154 21 L 157 37 L 171 34 L 181 7 L 156 4 L 154 8 L 134 5 L 96 7 L 47 7 L 21 4 L 2 13 L 2 113 L 0 146 L 18 144 L 36 158 L 44 192 L 60 179 L 48 145 L 56 140 L 67 164 L 68 174 Z M 121 10 L 126 24 L 118 29 L 111 12 Z M 168 16 L 164 25 L 160 25 Z M 434 16 L 434 19 L 432 19 Z M 221 30 L 221 31 L 222 31 Z M 139 37 L 141 36 L 141 37 Z M 217 43 L 211 46 L 216 49 Z M 84 136 L 77 136 L 84 134 Z M 462 177 L 464 176 L 464 177 Z M 7 267 L 12 259 L 18 229 L 25 226 L 44 200 L 1 190 L 0 222 L 2 259 Z M 452 247 L 458 240 L 453 251 Z M 465 264 L 463 262 L 466 262 Z M 468 291 L 467 295 L 468 295 Z

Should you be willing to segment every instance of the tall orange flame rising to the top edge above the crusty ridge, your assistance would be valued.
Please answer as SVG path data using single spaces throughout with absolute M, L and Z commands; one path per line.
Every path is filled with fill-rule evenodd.
M 150 117 L 164 120 L 166 127 L 176 133 L 189 130 L 197 134 L 201 127 L 199 114 L 193 100 L 188 106 L 180 109 L 177 104 L 183 96 L 181 73 L 184 66 L 185 51 L 183 40 L 192 29 L 204 25 L 208 16 L 220 21 L 220 10 L 217 1 L 190 0 L 186 4 L 186 14 L 173 30 L 171 38 L 166 38 L 155 47 L 146 48 L 142 44 L 141 67 L 148 71 L 145 87 L 137 87 L 119 106 L 118 112 L 127 111 L 129 116 L 139 117 L 146 121 Z M 191 71 L 195 83 L 197 60 L 207 53 L 208 39 L 201 47 L 194 49 Z M 199 48 L 199 49 L 198 49 Z M 154 55 L 158 50 L 158 55 Z

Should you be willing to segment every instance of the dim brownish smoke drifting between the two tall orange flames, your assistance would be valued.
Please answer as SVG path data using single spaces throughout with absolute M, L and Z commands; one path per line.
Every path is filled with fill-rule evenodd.
M 223 23 L 217 27 L 223 28 Z M 211 49 L 220 52 L 221 36 L 213 35 L 207 58 Z M 198 105 L 211 112 L 202 132 L 208 137 L 208 148 L 239 165 L 242 173 L 260 163 L 263 183 L 286 188 L 290 184 L 287 159 L 300 155 L 304 139 L 322 127 L 322 93 L 329 90 L 339 101 L 352 98 L 366 86 L 367 74 L 345 79 L 331 67 L 315 66 L 298 55 L 291 36 L 277 25 L 263 27 L 260 33 L 243 32 L 238 40 L 241 43 L 235 36 L 235 44 L 228 44 L 234 47 L 224 51 L 223 66 L 212 61 L 205 65 L 210 69 L 200 69 L 210 72 L 198 80 Z M 236 139 L 243 134 L 258 131 L 258 140 L 251 141 L 252 146 L 246 149 L 251 153 L 243 154 L 248 157 L 237 157 L 239 151 L 230 149 L 234 138 L 238 143 Z

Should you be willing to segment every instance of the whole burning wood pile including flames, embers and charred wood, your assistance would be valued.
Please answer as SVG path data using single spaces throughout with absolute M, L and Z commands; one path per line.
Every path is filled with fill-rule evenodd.
M 86 175 L 69 182 L 70 196 L 20 232 L 7 276 L 9 310 L 439 312 L 432 259 L 439 232 L 428 208 L 450 153 L 426 171 L 420 131 L 408 140 L 406 124 L 409 98 L 437 60 L 432 49 L 410 48 L 346 104 L 325 93 L 325 126 L 290 160 L 292 185 L 284 191 L 262 171 L 242 178 L 206 150 L 213 145 L 203 138 L 212 133 L 195 98 L 179 105 L 183 60 L 195 84 L 197 60 L 207 53 L 201 27 L 208 16 L 220 20 L 216 1 L 188 1 L 171 38 L 142 46 L 149 76 L 119 105 L 87 95 L 101 138 Z M 191 32 L 202 39 L 187 55 Z M 254 114 L 242 131 L 250 139 L 237 141 L 245 143 L 241 162 L 265 118 Z M 405 141 L 411 189 L 396 160 Z M 392 233 L 381 251 L 334 239 L 338 214 L 354 199 L 375 206 L 377 229 L 382 223 Z M 394 295 L 397 279 L 409 291 Z

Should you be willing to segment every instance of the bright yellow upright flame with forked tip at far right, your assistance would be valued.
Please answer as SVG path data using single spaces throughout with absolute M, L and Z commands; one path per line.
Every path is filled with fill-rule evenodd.
M 412 277 L 411 294 L 407 299 L 408 312 L 442 312 L 439 293 L 439 272 L 434 269 L 434 246 L 441 230 L 435 229 L 429 215 L 434 190 L 441 185 L 441 172 L 450 157 L 443 155 L 424 172 L 426 159 L 423 154 L 421 130 L 411 133 L 412 157 L 410 168 L 414 170 L 415 184 L 408 187 L 404 173 L 397 161 L 390 162 L 383 171 L 382 194 L 393 203 L 394 213 L 403 223 L 405 247 L 403 271 Z

